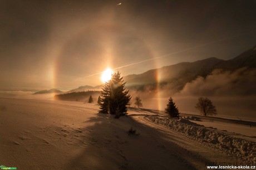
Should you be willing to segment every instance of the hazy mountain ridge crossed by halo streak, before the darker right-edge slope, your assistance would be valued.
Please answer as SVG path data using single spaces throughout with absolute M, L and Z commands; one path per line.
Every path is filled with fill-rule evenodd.
M 148 85 L 153 90 L 156 86 L 173 83 L 177 90 L 181 90 L 186 83 L 194 80 L 197 76 L 208 75 L 210 69 L 221 61 L 223 60 L 208 58 L 193 63 L 183 62 L 149 70 L 138 75 L 128 75 L 124 77 L 124 80 L 129 89 L 143 90 Z

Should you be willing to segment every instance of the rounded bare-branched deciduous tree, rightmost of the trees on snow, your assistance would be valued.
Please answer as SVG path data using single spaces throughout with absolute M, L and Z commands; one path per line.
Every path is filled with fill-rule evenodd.
M 211 100 L 207 97 L 199 97 L 198 103 L 195 105 L 195 108 L 198 109 L 204 116 L 217 114 L 216 107 L 213 105 L 213 102 L 211 102 Z

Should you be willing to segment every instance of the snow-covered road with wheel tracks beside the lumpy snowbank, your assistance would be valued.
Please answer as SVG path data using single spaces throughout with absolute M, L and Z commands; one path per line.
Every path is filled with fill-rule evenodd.
M 145 119 L 144 116 L 134 116 L 134 119 L 152 128 L 143 128 L 143 131 L 150 135 L 155 141 L 155 145 L 161 146 L 171 154 L 175 154 L 184 162 L 191 164 L 196 169 L 206 169 L 206 164 L 212 162 L 228 164 L 241 161 L 235 156 L 228 155 L 225 152 L 221 152 L 211 148 L 204 143 L 200 143 L 188 137 L 182 136 L 179 133 L 170 131 L 161 125 L 156 125 L 151 121 Z

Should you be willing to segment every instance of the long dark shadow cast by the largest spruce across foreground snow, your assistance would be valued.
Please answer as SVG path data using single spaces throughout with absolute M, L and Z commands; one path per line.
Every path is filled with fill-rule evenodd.
M 129 115 L 114 119 L 114 115 L 96 114 L 84 123 L 78 139 L 81 146 L 74 148 L 75 156 L 65 164 L 64 169 L 170 169 L 175 167 L 175 163 L 176 169 L 181 169 L 177 162 L 194 169 L 175 153 L 177 148 L 177 152 L 187 151 L 173 142 L 167 142 L 164 131 L 139 123 Z M 92 125 L 86 126 L 86 123 Z M 131 126 L 136 128 L 139 136 L 127 134 Z M 209 162 L 208 158 L 190 154 L 195 154 L 201 162 Z

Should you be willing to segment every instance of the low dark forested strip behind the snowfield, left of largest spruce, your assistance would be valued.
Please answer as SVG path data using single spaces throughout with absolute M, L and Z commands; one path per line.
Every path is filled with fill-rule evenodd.
M 88 101 L 89 97 L 97 99 L 99 97 L 100 91 L 81 91 L 81 92 L 70 92 L 67 94 L 55 95 L 56 100 L 68 100 L 68 101 Z

